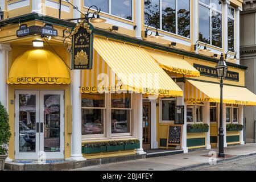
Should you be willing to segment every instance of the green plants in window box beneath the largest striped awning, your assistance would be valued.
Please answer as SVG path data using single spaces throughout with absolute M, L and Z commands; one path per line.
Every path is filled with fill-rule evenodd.
M 85 143 L 84 147 L 122 146 L 123 144 L 139 143 L 138 139 L 133 140 L 113 140 L 108 142 Z

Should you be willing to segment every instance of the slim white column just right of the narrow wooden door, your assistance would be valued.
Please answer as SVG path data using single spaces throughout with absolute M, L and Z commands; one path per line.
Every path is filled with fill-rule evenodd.
M 150 107 L 151 107 L 151 148 L 158 148 L 158 141 L 157 141 L 157 127 L 156 127 L 156 101 L 151 100 Z

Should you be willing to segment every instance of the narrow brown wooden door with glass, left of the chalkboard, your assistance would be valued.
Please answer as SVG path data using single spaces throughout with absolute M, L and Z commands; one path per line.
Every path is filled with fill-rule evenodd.
M 148 150 L 151 148 L 151 114 L 150 114 L 150 102 L 143 102 L 143 150 Z

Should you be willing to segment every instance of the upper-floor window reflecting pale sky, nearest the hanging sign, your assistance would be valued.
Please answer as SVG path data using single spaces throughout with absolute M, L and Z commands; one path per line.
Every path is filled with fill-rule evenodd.
M 95 5 L 101 9 L 101 12 L 129 20 L 133 19 L 132 0 L 84 0 L 84 5 L 86 7 Z

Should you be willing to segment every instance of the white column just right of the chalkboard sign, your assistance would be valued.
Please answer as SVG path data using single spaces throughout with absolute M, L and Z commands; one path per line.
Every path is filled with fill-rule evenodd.
M 177 85 L 183 90 L 185 94 L 185 84 L 183 82 L 177 82 Z M 184 103 L 184 96 L 176 98 L 177 105 L 184 106 L 184 125 L 182 127 L 182 141 L 181 141 L 181 148 L 184 153 L 188 153 L 187 147 L 187 105 Z

